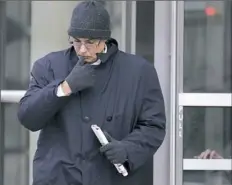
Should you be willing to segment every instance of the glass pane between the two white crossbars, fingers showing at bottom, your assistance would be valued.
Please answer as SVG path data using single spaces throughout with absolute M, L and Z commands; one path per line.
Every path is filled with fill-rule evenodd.
M 231 158 L 232 108 L 184 107 L 183 157 Z

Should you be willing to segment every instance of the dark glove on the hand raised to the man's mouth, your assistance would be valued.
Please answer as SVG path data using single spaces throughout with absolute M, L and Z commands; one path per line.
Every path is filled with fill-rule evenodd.
M 94 84 L 94 67 L 84 64 L 84 58 L 81 57 L 65 80 L 72 93 L 89 88 Z

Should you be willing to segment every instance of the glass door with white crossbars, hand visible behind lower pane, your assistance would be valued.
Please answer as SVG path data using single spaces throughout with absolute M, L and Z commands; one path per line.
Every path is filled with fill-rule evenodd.
M 231 184 L 231 1 L 178 1 L 175 184 Z

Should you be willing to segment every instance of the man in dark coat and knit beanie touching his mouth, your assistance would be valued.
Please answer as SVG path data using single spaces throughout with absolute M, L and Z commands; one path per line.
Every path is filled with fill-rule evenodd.
M 22 125 L 41 130 L 33 184 L 148 184 L 152 156 L 165 136 L 164 100 L 154 67 L 119 51 L 101 3 L 80 3 L 68 34 L 72 47 L 34 63 L 20 101 Z M 106 132 L 109 144 L 101 147 L 92 124 Z M 122 176 L 112 163 L 124 164 L 129 175 Z

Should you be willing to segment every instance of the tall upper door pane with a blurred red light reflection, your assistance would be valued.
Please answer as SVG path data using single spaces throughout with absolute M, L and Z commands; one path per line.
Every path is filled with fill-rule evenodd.
M 231 92 L 231 1 L 186 1 L 184 92 Z

